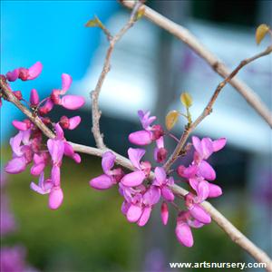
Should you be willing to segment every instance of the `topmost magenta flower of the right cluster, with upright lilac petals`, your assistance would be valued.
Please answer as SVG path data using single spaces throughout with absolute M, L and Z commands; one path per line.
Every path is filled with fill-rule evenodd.
M 138 115 L 141 121 L 143 131 L 135 131 L 129 135 L 129 141 L 137 145 L 147 145 L 152 141 L 158 140 L 163 134 L 163 130 L 160 125 L 153 125 L 151 123 L 155 121 L 156 117 L 151 116 L 151 112 L 139 111 Z

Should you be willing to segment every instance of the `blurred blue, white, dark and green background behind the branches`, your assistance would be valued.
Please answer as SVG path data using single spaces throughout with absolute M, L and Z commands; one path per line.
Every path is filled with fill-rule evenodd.
M 154 0 L 147 5 L 189 28 L 230 68 L 271 43 L 268 37 L 258 47 L 255 43 L 257 25 L 272 24 L 271 1 Z M 80 112 L 83 122 L 66 138 L 92 146 L 89 93 L 101 73 L 108 46 L 99 28 L 84 27 L 93 15 L 116 33 L 129 11 L 115 1 L 1 2 L 1 73 L 36 61 L 44 64 L 35 81 L 13 83 L 14 90 L 21 90 L 26 99 L 32 88 L 46 97 L 60 87 L 62 73 L 71 74 L 70 93 L 84 95 L 87 102 Z M 270 110 L 271 65 L 271 57 L 265 57 L 239 73 Z M 186 45 L 141 19 L 117 44 L 112 71 L 102 87 L 101 125 L 106 144 L 126 155 L 128 134 L 140 129 L 137 111 L 151 110 L 163 124 L 167 112 L 181 110 L 180 93 L 184 91 L 193 97 L 192 116 L 196 118 L 219 82 L 219 75 Z M 54 114 L 55 120 L 71 115 L 61 109 Z M 4 102 L 1 169 L 11 158 L 8 139 L 15 134 L 11 122 L 23 118 Z M 184 124 L 180 120 L 173 131 L 176 136 Z M 227 147 L 211 160 L 224 195 L 211 202 L 271 254 L 271 131 L 267 123 L 227 86 L 196 134 L 227 137 Z M 173 149 L 173 141 L 167 146 Z M 182 248 L 174 233 L 175 210 L 170 210 L 167 227 L 161 226 L 159 206 L 145 228 L 128 223 L 121 214 L 122 199 L 116 189 L 97 192 L 89 187 L 88 181 L 101 172 L 97 158 L 83 155 L 80 165 L 64 160 L 65 199 L 56 211 L 47 208 L 46 197 L 29 189 L 33 180 L 29 170 L 13 176 L 1 172 L 1 226 L 9 229 L 7 233 L 1 229 L 1 247 L 9 252 L 11 263 L 19 264 L 15 272 L 22 267 L 24 271 L 168 271 L 169 262 L 253 261 L 215 223 L 196 229 L 195 246 Z

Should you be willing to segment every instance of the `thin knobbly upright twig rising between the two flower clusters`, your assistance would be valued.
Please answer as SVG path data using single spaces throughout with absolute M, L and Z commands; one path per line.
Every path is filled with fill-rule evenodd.
M 99 94 L 102 90 L 102 84 L 106 78 L 107 73 L 110 72 L 111 69 L 111 57 L 112 57 L 112 52 L 114 49 L 115 44 L 121 39 L 122 35 L 125 34 L 131 26 L 136 22 L 137 19 L 137 12 L 141 6 L 141 2 L 135 2 L 133 5 L 133 10 L 131 12 L 131 17 L 130 20 L 125 24 L 121 30 L 119 31 L 118 34 L 112 36 L 109 35 L 109 31 L 106 32 L 106 35 L 110 41 L 109 48 L 106 53 L 105 61 L 102 67 L 102 73 L 100 74 L 100 77 L 98 79 L 98 82 L 96 84 L 96 87 L 94 91 L 91 92 L 91 97 L 92 97 L 92 134 L 94 137 L 94 140 L 96 142 L 96 146 L 100 149 L 105 149 L 106 146 L 103 142 L 103 135 L 102 132 L 100 131 L 100 118 L 102 115 L 102 112 L 99 110 Z M 105 32 L 105 29 L 103 29 Z

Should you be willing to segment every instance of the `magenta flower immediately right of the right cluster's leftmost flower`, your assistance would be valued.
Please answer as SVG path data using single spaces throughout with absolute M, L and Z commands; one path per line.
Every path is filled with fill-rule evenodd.
M 151 163 L 149 161 L 141 161 L 141 158 L 145 154 L 145 150 L 141 149 L 129 149 L 128 151 L 131 163 L 136 170 L 125 175 L 121 179 L 121 183 L 125 186 L 138 186 L 142 181 L 149 176 L 151 172 Z

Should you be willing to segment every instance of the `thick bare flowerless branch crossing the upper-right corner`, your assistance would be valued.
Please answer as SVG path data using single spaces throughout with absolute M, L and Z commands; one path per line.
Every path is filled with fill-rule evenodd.
M 131 8 L 134 5 L 134 1 L 121 0 L 121 4 Z M 143 7 L 143 15 L 152 23 L 159 25 L 161 28 L 180 39 L 184 44 L 189 45 L 195 53 L 198 53 L 199 56 L 209 63 L 210 67 L 212 67 L 212 69 L 219 73 L 223 78 L 228 76 L 230 71 L 226 64 L 222 63 L 214 53 L 211 53 L 208 48 L 201 44 L 197 37 L 191 34 L 188 29 L 170 21 L 170 19 L 160 15 L 146 5 L 143 5 Z M 272 127 L 272 114 L 268 110 L 267 106 L 260 100 L 257 93 L 249 88 L 246 83 L 238 80 L 237 78 L 231 80 L 229 83 L 246 99 L 248 104 L 254 108 L 265 121 L 267 121 L 268 125 Z

